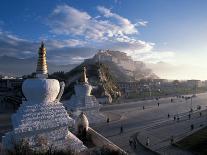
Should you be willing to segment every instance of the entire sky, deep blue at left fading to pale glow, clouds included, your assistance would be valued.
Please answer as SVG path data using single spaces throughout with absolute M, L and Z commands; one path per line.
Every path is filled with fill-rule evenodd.
M 207 79 L 206 0 L 1 0 L 0 56 L 80 63 L 126 52 L 161 78 Z

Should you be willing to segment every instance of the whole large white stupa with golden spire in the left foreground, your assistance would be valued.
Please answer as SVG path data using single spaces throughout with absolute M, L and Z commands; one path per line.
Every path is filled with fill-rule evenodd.
M 26 140 L 34 150 L 53 147 L 55 150 L 86 149 L 82 141 L 68 128 L 74 125 L 59 98 L 64 90 L 55 79 L 47 79 L 46 49 L 42 43 L 36 78 L 24 81 L 22 91 L 26 98 L 12 115 L 13 130 L 2 138 L 3 147 L 12 149 L 14 143 Z M 62 85 L 64 86 L 64 85 Z

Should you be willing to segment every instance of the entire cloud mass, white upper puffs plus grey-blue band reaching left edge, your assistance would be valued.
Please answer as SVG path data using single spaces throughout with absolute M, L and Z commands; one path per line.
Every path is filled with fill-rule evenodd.
M 40 37 L 45 40 L 48 61 L 80 63 L 93 56 L 97 49 L 126 52 L 135 60 L 158 61 L 171 57 L 169 53 L 154 52 L 154 43 L 137 39 L 138 27 L 146 26 L 147 21 L 133 23 L 106 7 L 96 9 L 98 14 L 94 17 L 69 5 L 58 5 L 51 11 L 47 20 L 50 33 Z M 35 57 L 38 47 L 39 41 L 23 39 L 0 29 L 0 55 Z

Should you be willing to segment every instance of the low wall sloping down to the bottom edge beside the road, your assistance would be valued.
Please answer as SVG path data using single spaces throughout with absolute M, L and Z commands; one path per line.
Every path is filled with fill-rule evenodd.
M 120 147 L 106 139 L 104 136 L 93 130 L 92 128 L 88 128 L 88 134 L 90 135 L 91 141 L 94 145 L 99 147 L 105 147 L 110 150 L 119 151 L 123 155 L 127 155 L 127 153 L 122 150 Z

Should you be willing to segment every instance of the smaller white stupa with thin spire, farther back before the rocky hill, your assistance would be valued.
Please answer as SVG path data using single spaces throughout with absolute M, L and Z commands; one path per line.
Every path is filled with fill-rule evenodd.
M 64 104 L 68 111 L 73 112 L 74 118 L 77 118 L 81 112 L 84 112 L 91 124 L 105 121 L 105 117 L 99 112 L 101 105 L 95 96 L 91 95 L 92 86 L 86 77 L 85 67 L 83 67 L 81 82 L 77 82 L 74 89 L 75 94 Z

